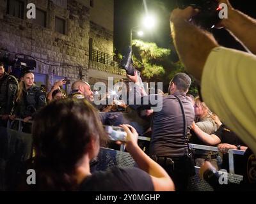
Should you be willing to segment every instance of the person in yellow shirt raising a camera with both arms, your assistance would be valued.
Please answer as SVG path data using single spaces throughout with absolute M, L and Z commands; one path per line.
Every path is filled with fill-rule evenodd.
M 191 6 L 173 10 L 170 26 L 180 59 L 201 83 L 205 103 L 250 147 L 246 150 L 250 156 L 245 157 L 248 165 L 244 165 L 244 180 L 250 186 L 256 184 L 252 173 L 256 171 L 252 154 L 256 154 L 256 20 L 234 9 L 228 0 L 220 3 L 227 5 L 228 18 L 216 27 L 225 27 L 249 53 L 221 47 L 212 34 L 191 23 L 190 19 L 200 13 Z

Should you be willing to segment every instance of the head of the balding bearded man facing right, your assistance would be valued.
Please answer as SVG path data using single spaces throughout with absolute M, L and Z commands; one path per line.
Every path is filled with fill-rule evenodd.
M 88 101 L 93 101 L 93 92 L 91 90 L 90 84 L 87 82 L 83 82 L 81 80 L 77 80 L 71 86 L 72 89 L 72 97 L 77 99 L 86 98 Z

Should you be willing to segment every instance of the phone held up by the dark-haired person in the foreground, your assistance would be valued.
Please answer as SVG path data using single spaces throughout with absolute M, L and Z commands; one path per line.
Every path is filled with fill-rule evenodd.
M 104 128 L 110 140 L 121 142 L 126 141 L 127 133 L 125 133 L 123 128 L 116 126 L 104 126 Z

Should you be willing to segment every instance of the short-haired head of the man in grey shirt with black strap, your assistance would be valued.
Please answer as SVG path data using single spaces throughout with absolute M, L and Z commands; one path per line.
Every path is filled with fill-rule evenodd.
M 171 80 L 169 85 L 169 94 L 177 91 L 188 92 L 191 85 L 191 78 L 186 73 L 177 73 Z

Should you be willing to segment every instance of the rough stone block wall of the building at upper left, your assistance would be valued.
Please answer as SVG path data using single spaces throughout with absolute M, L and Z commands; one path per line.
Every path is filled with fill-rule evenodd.
M 100 51 L 113 53 L 113 32 L 90 24 L 90 8 L 84 4 L 67 0 L 65 9 L 47 0 L 24 1 L 35 3 L 36 8 L 47 13 L 46 27 L 41 27 L 26 18 L 27 10 L 24 19 L 6 14 L 7 1 L 0 0 L 0 48 L 35 57 L 35 73 L 47 75 L 48 89 L 54 83 L 54 75 L 70 78 L 71 82 L 80 78 L 89 80 L 90 38 Z M 65 34 L 54 31 L 55 17 L 65 19 Z

